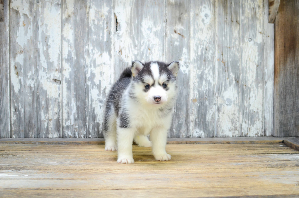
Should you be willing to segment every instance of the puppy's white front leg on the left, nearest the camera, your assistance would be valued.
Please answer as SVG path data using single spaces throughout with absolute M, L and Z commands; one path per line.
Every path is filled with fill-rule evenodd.
M 134 163 L 132 153 L 132 143 L 135 135 L 135 129 L 132 128 L 117 128 L 117 163 L 132 164 Z

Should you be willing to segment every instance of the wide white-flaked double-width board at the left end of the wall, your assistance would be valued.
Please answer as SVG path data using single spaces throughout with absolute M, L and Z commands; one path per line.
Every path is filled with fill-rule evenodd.
M 13 138 L 60 136 L 60 1 L 10 2 Z

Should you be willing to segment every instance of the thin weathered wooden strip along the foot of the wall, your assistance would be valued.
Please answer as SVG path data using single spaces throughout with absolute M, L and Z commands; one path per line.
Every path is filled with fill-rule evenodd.
M 283 137 L 168 138 L 167 144 L 277 144 Z M 103 138 L 2 138 L 0 144 L 105 144 Z

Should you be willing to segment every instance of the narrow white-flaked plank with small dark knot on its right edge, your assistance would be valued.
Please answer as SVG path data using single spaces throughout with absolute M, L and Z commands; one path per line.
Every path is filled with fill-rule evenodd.
M 59 138 L 61 132 L 61 1 L 39 1 L 34 17 L 38 28 L 38 32 L 35 33 L 37 134 L 34 136 Z

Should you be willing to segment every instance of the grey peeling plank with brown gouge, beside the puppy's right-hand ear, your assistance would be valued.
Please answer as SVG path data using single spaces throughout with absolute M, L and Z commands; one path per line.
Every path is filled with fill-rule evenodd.
M 179 61 L 178 99 L 169 137 L 190 137 L 190 2 L 166 1 L 166 61 Z

